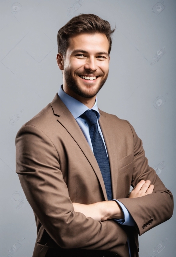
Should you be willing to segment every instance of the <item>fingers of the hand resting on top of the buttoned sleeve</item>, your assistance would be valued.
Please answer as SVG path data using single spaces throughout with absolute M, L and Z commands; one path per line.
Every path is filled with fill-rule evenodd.
M 140 182 L 133 188 L 128 198 L 136 198 L 145 196 L 147 194 L 152 194 L 154 185 L 150 185 L 150 180 L 140 180 Z

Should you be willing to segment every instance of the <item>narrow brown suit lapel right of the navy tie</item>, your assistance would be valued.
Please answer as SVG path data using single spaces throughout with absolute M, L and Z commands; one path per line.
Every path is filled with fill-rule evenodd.
M 98 123 L 100 125 L 103 138 L 105 141 L 107 154 L 109 158 L 109 165 L 111 171 L 111 182 L 112 182 L 112 198 L 116 199 L 117 194 L 117 176 L 118 176 L 118 161 L 117 161 L 117 147 L 116 147 L 116 140 L 113 135 L 111 120 L 106 117 L 105 112 L 101 111 L 99 108 L 100 119 Z

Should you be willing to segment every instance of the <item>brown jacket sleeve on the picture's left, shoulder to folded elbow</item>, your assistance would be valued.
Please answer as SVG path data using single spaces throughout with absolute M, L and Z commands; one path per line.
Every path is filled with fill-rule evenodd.
M 56 244 L 62 248 L 123 252 L 127 234 L 119 224 L 113 220 L 98 222 L 74 212 L 58 153 L 45 133 L 33 125 L 24 125 L 15 142 L 16 173 L 21 187 Z

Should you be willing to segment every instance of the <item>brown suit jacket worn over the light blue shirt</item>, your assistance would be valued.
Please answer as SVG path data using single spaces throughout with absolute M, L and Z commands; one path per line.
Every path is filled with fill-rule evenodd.
M 139 256 L 138 234 L 172 217 L 173 195 L 149 167 L 134 128 L 128 121 L 98 110 L 110 162 L 113 199 L 126 206 L 135 227 L 114 220 L 98 222 L 74 212 L 72 202 L 105 201 L 107 194 L 86 138 L 56 94 L 16 136 L 16 172 L 37 226 L 33 256 L 45 256 L 49 247 L 109 250 L 129 256 L 127 234 L 132 256 Z M 142 179 L 155 186 L 153 193 L 127 198 L 130 185 L 135 187 Z M 151 219 L 153 222 L 144 227 Z

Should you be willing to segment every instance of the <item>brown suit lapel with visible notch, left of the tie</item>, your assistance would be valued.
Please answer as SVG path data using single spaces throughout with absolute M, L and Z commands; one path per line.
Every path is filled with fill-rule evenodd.
M 107 201 L 106 189 L 105 189 L 105 185 L 104 185 L 104 181 L 103 181 L 103 178 L 102 178 L 100 168 L 98 166 L 97 160 L 96 160 L 96 158 L 95 158 L 95 156 L 94 156 L 86 138 L 84 137 L 84 134 L 81 131 L 78 123 L 76 122 L 76 120 L 74 119 L 73 115 L 68 110 L 68 108 L 61 101 L 58 94 L 55 95 L 55 98 L 51 102 L 51 106 L 52 106 L 52 109 L 54 111 L 54 114 L 56 116 L 58 116 L 57 121 L 60 124 L 62 124 L 62 126 L 68 131 L 68 133 L 71 135 L 71 137 L 74 139 L 74 141 L 78 144 L 78 146 L 82 150 L 85 157 L 88 159 L 88 161 L 89 161 L 90 165 L 92 166 L 95 174 L 97 175 L 97 178 L 98 178 L 99 183 L 100 183 L 101 188 L 102 188 L 104 198 Z

